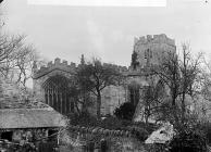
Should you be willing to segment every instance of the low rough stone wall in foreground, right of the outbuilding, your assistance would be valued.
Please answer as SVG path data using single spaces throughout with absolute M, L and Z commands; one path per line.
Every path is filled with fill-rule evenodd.
M 109 130 L 103 128 L 87 128 L 70 126 L 60 134 L 61 152 L 86 152 L 100 150 L 101 152 L 145 152 L 144 143 L 128 130 Z M 65 149 L 65 150 L 64 150 Z

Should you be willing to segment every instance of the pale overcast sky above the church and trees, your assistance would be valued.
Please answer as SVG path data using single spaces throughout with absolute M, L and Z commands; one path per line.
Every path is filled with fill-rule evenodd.
M 211 1 L 167 0 L 166 7 L 35 5 L 27 0 L 1 4 L 8 33 L 27 35 L 46 59 L 69 62 L 100 56 L 128 66 L 134 37 L 166 34 L 194 52 L 211 52 Z

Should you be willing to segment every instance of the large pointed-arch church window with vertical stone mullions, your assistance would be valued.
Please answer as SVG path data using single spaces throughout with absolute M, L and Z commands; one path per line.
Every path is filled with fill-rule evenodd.
M 44 81 L 41 88 L 45 93 L 45 101 L 55 111 L 69 114 L 74 111 L 69 93 L 70 79 L 63 75 L 53 75 Z

